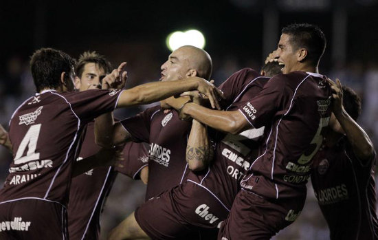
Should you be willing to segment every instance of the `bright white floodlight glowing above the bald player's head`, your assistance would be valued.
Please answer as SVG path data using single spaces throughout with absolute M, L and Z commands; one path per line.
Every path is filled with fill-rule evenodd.
M 177 31 L 167 36 L 166 45 L 171 51 L 175 51 L 184 45 L 192 45 L 203 49 L 205 47 L 205 37 L 198 30 Z

